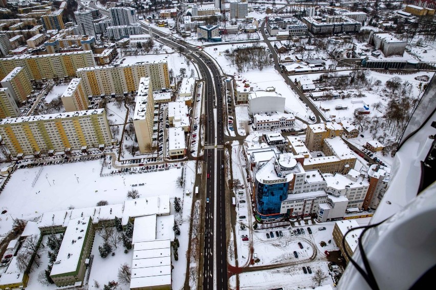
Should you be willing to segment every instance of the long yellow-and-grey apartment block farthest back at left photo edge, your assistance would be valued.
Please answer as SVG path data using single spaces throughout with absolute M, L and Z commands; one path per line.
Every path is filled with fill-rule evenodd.
M 0 78 L 6 77 L 17 66 L 26 69 L 30 80 L 51 80 L 55 77 L 75 77 L 77 69 L 95 66 L 95 61 L 91 51 L 2 58 Z

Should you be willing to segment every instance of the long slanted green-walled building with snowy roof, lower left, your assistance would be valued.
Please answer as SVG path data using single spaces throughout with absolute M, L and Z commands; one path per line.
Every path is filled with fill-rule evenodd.
M 91 253 L 94 236 L 95 229 L 90 216 L 70 220 L 50 272 L 50 278 L 56 286 L 83 284 L 87 268 L 85 259 Z

